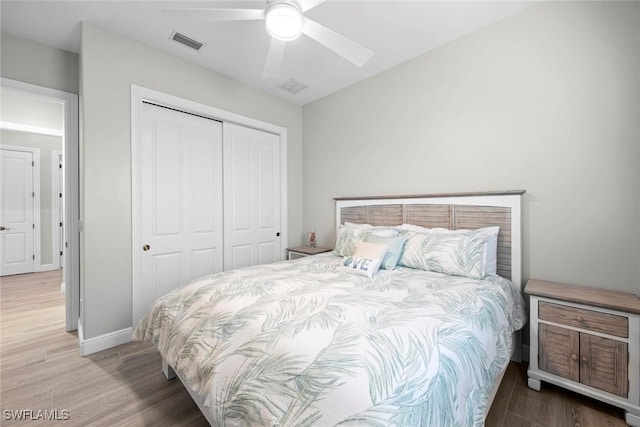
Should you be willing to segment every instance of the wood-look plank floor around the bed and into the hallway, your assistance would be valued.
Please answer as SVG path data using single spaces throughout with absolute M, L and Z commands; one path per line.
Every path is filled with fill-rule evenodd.
M 206 426 L 180 381 L 166 381 L 149 344 L 129 343 L 81 357 L 64 331 L 59 271 L 3 277 L 0 425 Z M 6 410 L 68 411 L 66 421 L 15 421 Z M 622 427 L 621 410 L 543 384 L 527 388 L 526 365 L 512 363 L 488 427 Z

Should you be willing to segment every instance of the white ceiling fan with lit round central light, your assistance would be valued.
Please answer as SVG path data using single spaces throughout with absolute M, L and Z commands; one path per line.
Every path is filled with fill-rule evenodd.
M 373 56 L 372 51 L 304 16 L 306 11 L 324 1 L 326 0 L 267 0 L 264 9 L 174 8 L 162 11 L 167 16 L 191 22 L 264 19 L 271 35 L 271 44 L 262 72 L 263 79 L 277 78 L 280 75 L 286 42 L 295 40 L 300 34 L 305 34 L 362 67 Z

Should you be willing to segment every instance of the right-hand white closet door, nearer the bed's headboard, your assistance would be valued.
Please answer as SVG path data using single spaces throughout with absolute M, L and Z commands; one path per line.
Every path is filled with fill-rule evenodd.
M 279 261 L 280 137 L 223 127 L 224 269 Z

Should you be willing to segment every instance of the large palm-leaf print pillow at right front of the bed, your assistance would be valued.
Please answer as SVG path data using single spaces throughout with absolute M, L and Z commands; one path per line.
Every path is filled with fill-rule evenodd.
M 453 233 L 404 231 L 407 242 L 399 264 L 452 276 L 483 279 L 486 276 L 485 246 L 482 231 Z

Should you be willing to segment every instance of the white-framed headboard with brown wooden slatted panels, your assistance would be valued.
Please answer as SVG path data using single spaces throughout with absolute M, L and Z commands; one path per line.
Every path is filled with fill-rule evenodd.
M 414 224 L 450 230 L 499 226 L 498 274 L 522 288 L 523 190 L 419 196 L 338 197 L 336 224 Z

